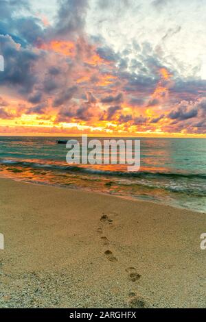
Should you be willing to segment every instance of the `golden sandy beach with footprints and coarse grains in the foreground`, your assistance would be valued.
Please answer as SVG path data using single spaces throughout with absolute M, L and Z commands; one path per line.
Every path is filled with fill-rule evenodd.
M 205 308 L 206 216 L 0 179 L 1 308 Z

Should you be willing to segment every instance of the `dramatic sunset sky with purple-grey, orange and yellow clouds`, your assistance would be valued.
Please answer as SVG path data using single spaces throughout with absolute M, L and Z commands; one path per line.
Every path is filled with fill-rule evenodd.
M 206 137 L 206 0 L 0 0 L 0 135 Z

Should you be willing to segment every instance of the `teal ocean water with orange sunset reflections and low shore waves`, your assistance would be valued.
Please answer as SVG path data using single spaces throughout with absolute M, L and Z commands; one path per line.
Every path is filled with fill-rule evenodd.
M 206 212 L 204 138 L 139 138 L 137 172 L 122 164 L 67 164 L 68 149 L 58 139 L 71 138 L 1 136 L 0 175 Z

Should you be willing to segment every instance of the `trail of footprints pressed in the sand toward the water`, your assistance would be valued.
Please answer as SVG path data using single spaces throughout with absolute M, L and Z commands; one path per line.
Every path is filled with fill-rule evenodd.
M 115 212 L 111 213 L 111 216 L 117 216 Z M 105 225 L 113 225 L 113 219 L 107 216 L 107 214 L 102 214 L 100 218 L 100 225 L 98 227 L 97 232 L 101 234 L 100 240 L 102 241 L 102 244 L 104 246 L 109 246 L 110 241 L 106 236 L 104 236 L 104 227 Z M 107 258 L 107 260 L 110 260 L 111 262 L 117 262 L 117 258 L 113 255 L 113 252 L 109 249 L 104 251 L 104 256 Z M 128 274 L 128 280 L 130 282 L 136 282 L 137 280 L 140 279 L 141 275 L 137 273 L 137 270 L 135 267 L 128 267 L 126 269 L 126 273 Z M 128 304 L 130 305 L 131 308 L 146 308 L 147 304 L 146 301 L 144 301 L 144 298 L 136 295 L 134 292 L 129 293 L 129 300 Z

